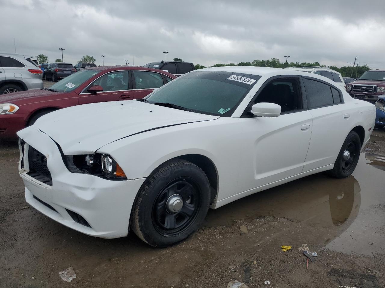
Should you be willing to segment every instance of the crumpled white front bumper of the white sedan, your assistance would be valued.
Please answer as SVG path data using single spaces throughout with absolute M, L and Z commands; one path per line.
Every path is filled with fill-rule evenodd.
M 102 238 L 127 236 L 132 205 L 146 178 L 114 181 L 71 173 L 64 165 L 59 148 L 47 134 L 30 127 L 19 131 L 18 136 L 44 154 L 52 176 L 52 186 L 39 182 L 27 174 L 27 156 L 24 156 L 23 168 L 20 159 L 19 172 L 25 184 L 25 199 L 30 205 L 87 235 Z M 84 221 L 75 221 L 71 214 L 80 215 L 89 226 L 84 225 Z

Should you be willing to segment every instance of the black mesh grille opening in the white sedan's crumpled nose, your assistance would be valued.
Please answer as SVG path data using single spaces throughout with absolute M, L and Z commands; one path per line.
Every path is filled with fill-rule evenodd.
M 29 176 L 52 186 L 52 177 L 47 167 L 47 158 L 32 146 L 28 149 Z

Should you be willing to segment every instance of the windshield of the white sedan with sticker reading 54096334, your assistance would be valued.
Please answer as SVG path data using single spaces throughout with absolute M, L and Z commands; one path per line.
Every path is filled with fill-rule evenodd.
M 259 78 L 261 76 L 235 72 L 198 71 L 171 81 L 146 100 L 229 117 Z

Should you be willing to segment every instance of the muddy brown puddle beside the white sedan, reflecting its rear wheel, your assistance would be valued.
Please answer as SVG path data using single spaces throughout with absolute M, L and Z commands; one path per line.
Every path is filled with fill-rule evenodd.
M 210 210 L 205 226 L 231 226 L 236 219 L 273 215 L 319 228 L 323 232 L 318 231 L 322 233 L 318 243 L 326 248 L 366 255 L 381 252 L 385 249 L 381 232 L 385 227 L 385 162 L 366 156 L 361 154 L 348 178 L 320 173 L 250 195 Z

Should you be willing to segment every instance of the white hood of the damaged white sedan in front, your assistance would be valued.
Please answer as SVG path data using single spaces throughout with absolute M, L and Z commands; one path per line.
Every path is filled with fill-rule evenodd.
M 112 101 L 54 111 L 17 134 L 23 138 L 29 129 L 39 129 L 59 144 L 64 154 L 87 154 L 133 134 L 218 118 L 136 100 Z

